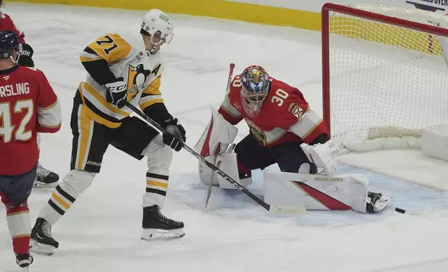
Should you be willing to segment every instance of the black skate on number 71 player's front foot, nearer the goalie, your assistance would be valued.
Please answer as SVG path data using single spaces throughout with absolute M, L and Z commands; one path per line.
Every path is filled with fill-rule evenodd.
M 177 239 L 185 235 L 184 223 L 169 219 L 160 212 L 158 205 L 143 207 L 143 232 L 141 239 Z

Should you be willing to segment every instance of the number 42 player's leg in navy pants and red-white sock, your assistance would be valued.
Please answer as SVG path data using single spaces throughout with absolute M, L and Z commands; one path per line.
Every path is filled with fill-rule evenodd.
M 0 175 L 0 197 L 6 207 L 6 221 L 16 255 L 26 254 L 29 250 L 31 219 L 27 199 L 33 188 L 36 170 L 37 164 L 28 173 Z

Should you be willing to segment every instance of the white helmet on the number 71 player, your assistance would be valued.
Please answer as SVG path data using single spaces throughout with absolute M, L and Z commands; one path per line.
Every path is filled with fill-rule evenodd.
M 161 38 L 161 42 L 169 44 L 173 40 L 174 26 L 170 17 L 165 12 L 154 8 L 148 11 L 143 17 L 141 24 L 141 33 L 146 35 L 155 35 Z M 156 44 L 157 45 L 157 44 Z

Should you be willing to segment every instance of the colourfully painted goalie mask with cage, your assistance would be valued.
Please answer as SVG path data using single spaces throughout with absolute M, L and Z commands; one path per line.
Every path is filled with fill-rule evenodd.
M 241 74 L 241 103 L 250 117 L 255 117 L 262 109 L 269 84 L 269 75 L 261 66 L 247 67 Z

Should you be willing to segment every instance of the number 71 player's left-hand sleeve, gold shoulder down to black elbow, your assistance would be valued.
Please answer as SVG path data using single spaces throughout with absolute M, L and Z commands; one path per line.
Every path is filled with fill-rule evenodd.
M 109 64 L 126 58 L 131 45 L 118 34 L 107 34 L 86 46 L 79 59 L 88 74 L 99 84 L 117 81 Z

